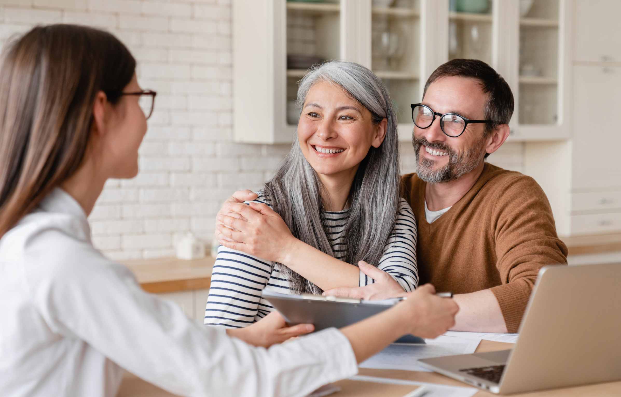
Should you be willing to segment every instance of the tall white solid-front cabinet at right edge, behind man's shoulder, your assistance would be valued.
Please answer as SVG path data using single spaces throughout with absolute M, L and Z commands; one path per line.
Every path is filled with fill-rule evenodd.
M 621 2 L 571 1 L 571 141 L 528 143 L 525 174 L 542 185 L 550 199 L 558 233 L 621 231 L 621 146 L 616 119 L 621 109 L 620 38 L 614 27 Z M 616 11 L 615 11 L 616 10 Z M 609 48 L 602 58 L 604 49 Z

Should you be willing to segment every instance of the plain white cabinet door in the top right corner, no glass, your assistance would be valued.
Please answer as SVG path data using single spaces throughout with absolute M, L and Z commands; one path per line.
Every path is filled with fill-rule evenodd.
M 621 62 L 621 1 L 573 0 L 576 9 L 575 51 L 580 62 Z

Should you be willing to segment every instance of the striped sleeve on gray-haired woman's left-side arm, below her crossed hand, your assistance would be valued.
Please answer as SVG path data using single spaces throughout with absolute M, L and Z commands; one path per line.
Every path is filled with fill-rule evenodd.
M 255 202 L 264 202 L 260 196 Z M 243 328 L 261 317 L 260 300 L 272 263 L 219 246 L 205 308 L 205 324 Z

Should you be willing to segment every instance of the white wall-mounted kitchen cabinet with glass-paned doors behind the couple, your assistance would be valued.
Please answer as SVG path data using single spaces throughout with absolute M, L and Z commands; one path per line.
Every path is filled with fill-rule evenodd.
M 295 55 L 371 68 L 391 93 L 403 141 L 412 138 L 410 104 L 422 99 L 432 71 L 452 58 L 478 58 L 514 91 L 510 140 L 566 140 L 573 3 L 535 0 L 524 18 L 519 4 L 490 0 L 485 9 L 468 12 L 473 10 L 451 10 L 450 0 L 394 0 L 390 7 L 372 0 L 236 0 L 234 139 L 291 143 L 299 117 L 297 82 L 309 66 L 292 66 L 288 55 Z

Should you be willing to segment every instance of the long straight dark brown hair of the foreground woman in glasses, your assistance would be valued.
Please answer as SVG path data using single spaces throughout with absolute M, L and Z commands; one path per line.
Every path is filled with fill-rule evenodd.
M 112 104 L 136 61 L 111 33 L 38 26 L 10 43 L 0 63 L 0 238 L 84 159 L 93 104 Z

